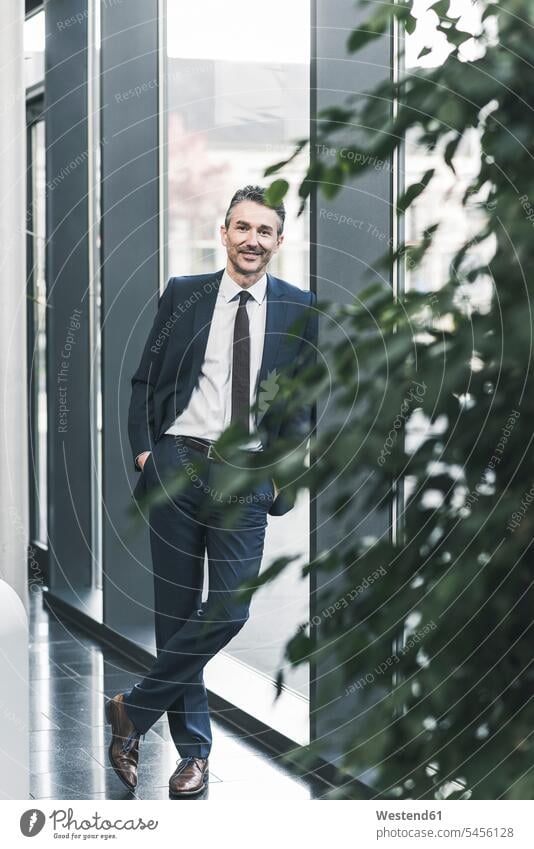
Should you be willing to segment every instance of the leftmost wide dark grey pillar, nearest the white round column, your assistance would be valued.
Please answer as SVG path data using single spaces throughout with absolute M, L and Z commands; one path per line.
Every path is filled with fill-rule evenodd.
M 91 582 L 85 10 L 86 0 L 46 4 L 48 524 L 57 589 Z

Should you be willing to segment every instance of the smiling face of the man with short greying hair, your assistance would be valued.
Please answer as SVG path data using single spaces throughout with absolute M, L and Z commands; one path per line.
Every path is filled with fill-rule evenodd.
M 221 226 L 221 241 L 234 271 L 256 279 L 263 274 L 284 240 L 278 235 L 278 223 L 274 209 L 261 203 L 243 200 L 234 206 L 228 229 Z

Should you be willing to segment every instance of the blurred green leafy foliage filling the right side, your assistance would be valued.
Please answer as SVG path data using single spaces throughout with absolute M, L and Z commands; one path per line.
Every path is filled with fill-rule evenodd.
M 350 35 L 350 50 L 389 33 L 393 16 L 413 31 L 412 2 L 378 6 Z M 439 291 L 394 301 L 375 284 L 352 304 L 319 304 L 342 332 L 290 399 L 323 402 L 330 393 L 335 423 L 314 439 L 317 462 L 307 468 L 299 455 L 298 484 L 287 461 L 273 474 L 290 491 L 335 482 L 339 543 L 304 570 L 320 579 L 323 611 L 335 612 L 299 628 L 286 657 L 336 670 L 324 687 L 319 682 L 316 709 L 342 701 L 344 691 L 352 697 L 355 721 L 345 717 L 334 735 L 343 752 L 338 765 L 348 775 L 373 770 L 377 794 L 527 799 L 534 797 L 534 21 L 527 0 L 509 0 L 506 8 L 484 3 L 475 39 L 481 55 L 467 62 L 459 50 L 470 36 L 449 6 L 433 4 L 451 48 L 446 61 L 323 111 L 318 149 L 332 149 L 338 134 L 346 138 L 358 127 L 351 150 L 361 156 L 333 163 L 314 155 L 299 189 L 302 201 L 318 184 L 335 197 L 414 129 L 453 174 L 462 139 L 472 129 L 480 139 L 480 171 L 463 203 L 478 204 L 484 215 Z M 384 103 L 394 101 L 397 111 L 386 112 Z M 429 168 L 406 188 L 399 215 L 432 192 L 433 176 Z M 278 198 L 280 181 L 274 186 Z M 421 263 L 440 237 L 437 224 L 428 224 L 421 243 L 401 245 L 396 261 Z M 494 250 L 486 266 L 473 261 L 473 248 L 487 241 Z M 482 310 L 470 295 L 484 277 L 493 297 Z M 369 538 L 352 527 L 362 476 L 359 514 L 387 511 L 397 500 L 396 536 Z M 281 568 L 277 563 L 267 579 Z M 380 569 L 380 578 L 354 595 Z M 312 750 L 321 752 L 321 744 L 307 754 Z M 357 783 L 340 783 L 337 795 L 357 794 Z

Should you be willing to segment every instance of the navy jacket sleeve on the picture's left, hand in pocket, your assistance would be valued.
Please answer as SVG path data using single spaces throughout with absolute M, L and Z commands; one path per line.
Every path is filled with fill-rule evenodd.
M 131 379 L 132 394 L 128 410 L 128 438 L 132 450 L 134 468 L 138 472 L 136 458 L 143 451 L 152 451 L 154 442 L 154 386 L 157 382 L 164 351 L 173 325 L 171 278 L 165 291 L 158 299 L 158 311 L 146 341 L 141 361 Z

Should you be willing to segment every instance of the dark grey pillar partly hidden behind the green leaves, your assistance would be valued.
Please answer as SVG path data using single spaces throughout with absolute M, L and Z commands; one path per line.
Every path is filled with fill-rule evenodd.
M 320 130 L 313 118 L 317 112 L 331 105 L 340 105 L 348 93 L 365 92 L 375 83 L 391 74 L 392 42 L 384 37 L 370 45 L 356 57 L 346 51 L 349 32 L 362 17 L 365 19 L 371 10 L 357 10 L 352 0 L 343 0 L 335 4 L 335 27 L 332 27 L 332 3 L 329 0 L 316 0 L 315 4 L 315 44 L 312 67 L 312 133 Z M 363 94 L 362 94 L 363 96 Z M 349 140 L 355 142 L 354 130 L 338 135 L 338 146 Z M 334 159 L 332 158 L 332 164 Z M 338 194 L 333 201 L 327 201 L 318 192 L 312 201 L 312 242 L 315 247 L 313 256 L 313 275 L 318 299 L 328 299 L 337 303 L 348 303 L 364 285 L 369 283 L 368 269 L 372 268 L 384 254 L 387 240 L 392 236 L 392 170 L 391 164 L 354 180 Z M 354 221 L 362 221 L 363 226 L 338 223 L 334 215 L 345 215 Z M 339 220 L 339 218 L 338 218 Z M 383 272 L 381 272 L 383 273 Z M 385 279 L 384 285 L 390 280 Z M 335 328 L 326 318 L 320 320 L 319 350 L 323 351 L 326 342 L 336 338 Z M 355 362 L 356 369 L 356 362 Z M 334 392 L 335 397 L 335 392 Z M 318 405 L 317 418 L 319 431 L 329 427 L 336 420 L 331 398 L 328 407 Z M 354 411 L 353 415 L 358 415 Z M 348 482 L 345 479 L 343 484 Z M 354 491 L 360 483 L 355 478 Z M 352 500 L 348 525 L 354 529 L 352 536 L 366 534 L 381 535 L 389 526 L 389 516 L 383 511 L 369 513 L 362 505 L 364 490 Z M 314 545 L 317 550 L 335 548 L 341 533 L 347 533 L 347 520 L 343 526 L 333 517 L 332 500 L 339 497 L 339 486 L 331 487 L 315 504 L 316 534 Z M 322 590 L 332 576 L 318 578 L 312 593 L 312 615 L 323 608 Z M 356 616 L 355 610 L 355 616 Z M 320 739 L 327 750 L 335 755 L 340 750 L 340 726 L 345 726 L 351 716 L 357 714 L 363 706 L 363 699 L 345 696 L 345 685 L 329 665 L 319 664 L 312 669 L 312 736 Z M 320 683 L 319 683 L 320 682 Z M 321 693 L 329 692 L 332 703 L 328 708 L 319 708 L 323 703 Z M 365 694 L 365 699 L 377 697 L 377 692 Z M 318 709 L 319 708 L 319 709 Z M 358 735 L 358 723 L 351 728 L 355 742 Z M 366 764 L 362 762 L 362 768 Z M 366 776 L 369 778 L 369 776 Z

